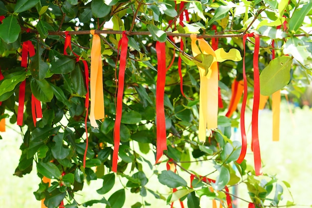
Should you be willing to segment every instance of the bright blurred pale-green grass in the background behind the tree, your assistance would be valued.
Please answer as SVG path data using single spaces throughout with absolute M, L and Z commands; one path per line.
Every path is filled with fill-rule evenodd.
M 292 121 L 292 117 L 294 122 Z M 247 124 L 250 116 L 246 115 Z M 279 142 L 272 141 L 272 112 L 269 110 L 262 110 L 259 114 L 259 138 L 261 146 L 261 156 L 264 163 L 264 173 L 276 175 L 280 181 L 286 181 L 291 185 L 291 192 L 295 203 L 298 205 L 312 205 L 311 192 L 312 187 L 312 110 L 308 107 L 303 109 L 296 108 L 292 116 L 288 110 L 286 103 L 282 104 L 281 113 L 281 135 Z M 16 128 L 15 125 L 11 127 Z M 0 133 L 2 140 L 0 140 L 0 208 L 39 208 L 40 202 L 36 201 L 33 192 L 38 188 L 39 179 L 36 176 L 36 170 L 23 178 L 13 176 L 14 170 L 18 165 L 20 156 L 19 146 L 22 143 L 21 135 L 13 129 L 7 128 L 6 132 Z M 239 133 L 238 133 L 238 138 Z M 250 139 L 250 137 L 249 137 Z M 250 144 L 250 141 L 248 141 Z M 249 164 L 252 164 L 253 156 L 250 152 L 247 155 Z M 199 169 L 205 169 L 204 164 L 200 164 Z M 163 169 L 162 169 L 163 168 Z M 158 167 L 159 171 L 164 170 L 165 167 Z M 196 170 L 197 171 L 197 170 Z M 156 178 L 150 179 L 150 183 Z M 187 179 L 186 179 L 187 180 Z M 150 184 L 149 183 L 149 184 Z M 90 186 L 85 185 L 84 191 L 77 196 L 76 200 L 79 203 L 86 202 L 91 199 L 101 199 L 97 195 L 96 190 L 101 188 L 101 183 L 91 182 Z M 149 186 L 153 186 L 152 184 Z M 116 190 L 122 188 L 117 185 Z M 164 190 L 165 191 L 165 190 Z M 284 191 L 286 192 L 286 190 Z M 109 198 L 111 193 L 104 197 Z M 95 196 L 97 195 L 97 196 Z M 137 196 L 133 196 L 134 203 L 137 202 Z M 240 186 L 238 196 L 249 200 L 247 189 Z M 154 198 L 154 197 L 153 197 Z M 287 200 L 291 200 L 289 195 L 285 195 L 283 204 Z M 155 199 L 147 199 L 149 203 L 157 203 Z M 126 207 L 131 207 L 132 202 L 126 202 Z M 185 204 L 185 203 L 184 203 Z M 205 202 L 201 202 L 206 204 Z M 165 205 L 165 202 L 161 203 Z M 186 204 L 185 204 L 186 205 Z M 209 203 L 208 203 L 209 205 Z M 103 205 L 95 205 L 93 208 L 100 208 Z M 161 206 L 160 206 L 161 207 Z M 244 204 L 239 204 L 240 207 L 246 207 Z

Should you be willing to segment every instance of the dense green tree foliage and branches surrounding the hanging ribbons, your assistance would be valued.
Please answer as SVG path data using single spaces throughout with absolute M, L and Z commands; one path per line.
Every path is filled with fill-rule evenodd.
M 151 196 L 168 204 L 181 201 L 189 208 L 199 208 L 202 199 L 217 200 L 223 207 L 231 207 L 231 198 L 236 196 L 228 188 L 242 184 L 247 185 L 250 199 L 245 201 L 250 206 L 277 207 L 283 199 L 283 187 L 287 189 L 289 185 L 266 173 L 255 176 L 246 160 L 241 164 L 235 162 L 241 143 L 231 140 L 231 129 L 238 127 L 240 109 L 235 109 L 230 117 L 225 115 L 230 105 L 231 85 L 234 80 L 243 79 L 243 60 L 236 57 L 244 55 L 243 36 L 251 32 L 260 34 L 261 40 L 258 59 L 261 93 L 271 95 L 286 89 L 300 97 L 311 75 L 312 39 L 308 30 L 311 9 L 309 0 L 0 1 L 1 118 L 9 118 L 9 122 L 15 124 L 23 114 L 19 120 L 23 137 L 21 157 L 14 175 L 22 177 L 30 173 L 35 164 L 42 182 L 34 195 L 37 200 L 44 200 L 48 208 L 88 207 L 97 203 L 108 208 L 140 208 L 150 206 L 146 197 Z M 90 66 L 92 29 L 101 34 L 105 119 L 98 121 L 99 128 L 91 127 L 88 118 L 85 123 L 89 87 L 85 64 Z M 129 48 L 119 163 L 117 173 L 113 173 L 122 31 L 126 31 L 129 38 Z M 218 109 L 218 128 L 207 133 L 204 143 L 198 139 L 200 75 L 197 66 L 204 68 L 207 75 L 213 58 L 207 54 L 193 57 L 189 34 L 198 34 L 207 41 L 218 39 L 219 48 L 240 52 L 231 52 L 230 60 L 219 62 L 223 107 Z M 66 46 L 67 35 L 71 36 Z M 154 165 L 156 41 L 165 42 L 166 50 L 167 151 L 162 163 L 166 163 L 167 169 Z M 65 51 L 64 47 L 67 47 Z M 273 60 L 272 49 L 276 54 Z M 218 54 L 226 53 L 224 50 Z M 253 97 L 254 50 L 255 39 L 250 37 L 245 56 L 248 99 Z M 178 57 L 182 60 L 180 73 Z M 179 74 L 183 78 L 184 94 Z M 20 90 L 23 84 L 25 92 Z M 19 105 L 24 106 L 21 112 L 18 112 Z M 42 118 L 36 111 L 40 105 Z M 193 163 L 202 163 L 207 168 L 197 172 L 190 169 Z M 157 186 L 149 181 L 147 173 L 157 177 L 154 182 Z M 50 185 L 46 179 L 51 179 Z M 77 202 L 75 193 L 92 180 L 103 183 L 97 190 L 103 198 Z M 124 182 L 123 188 L 110 192 L 120 181 Z M 159 190 L 161 186 L 170 189 L 164 193 Z M 127 193 L 136 193 L 143 200 L 126 206 Z M 293 206 L 294 202 L 286 205 Z

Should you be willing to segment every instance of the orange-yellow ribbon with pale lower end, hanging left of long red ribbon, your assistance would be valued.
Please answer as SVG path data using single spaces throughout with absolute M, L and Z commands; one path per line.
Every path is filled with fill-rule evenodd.
M 103 93 L 103 71 L 101 57 L 101 38 L 95 34 L 95 30 L 90 30 L 93 35 L 91 48 L 91 72 L 90 72 L 90 123 L 97 128 L 96 120 L 104 119 L 104 93 Z

